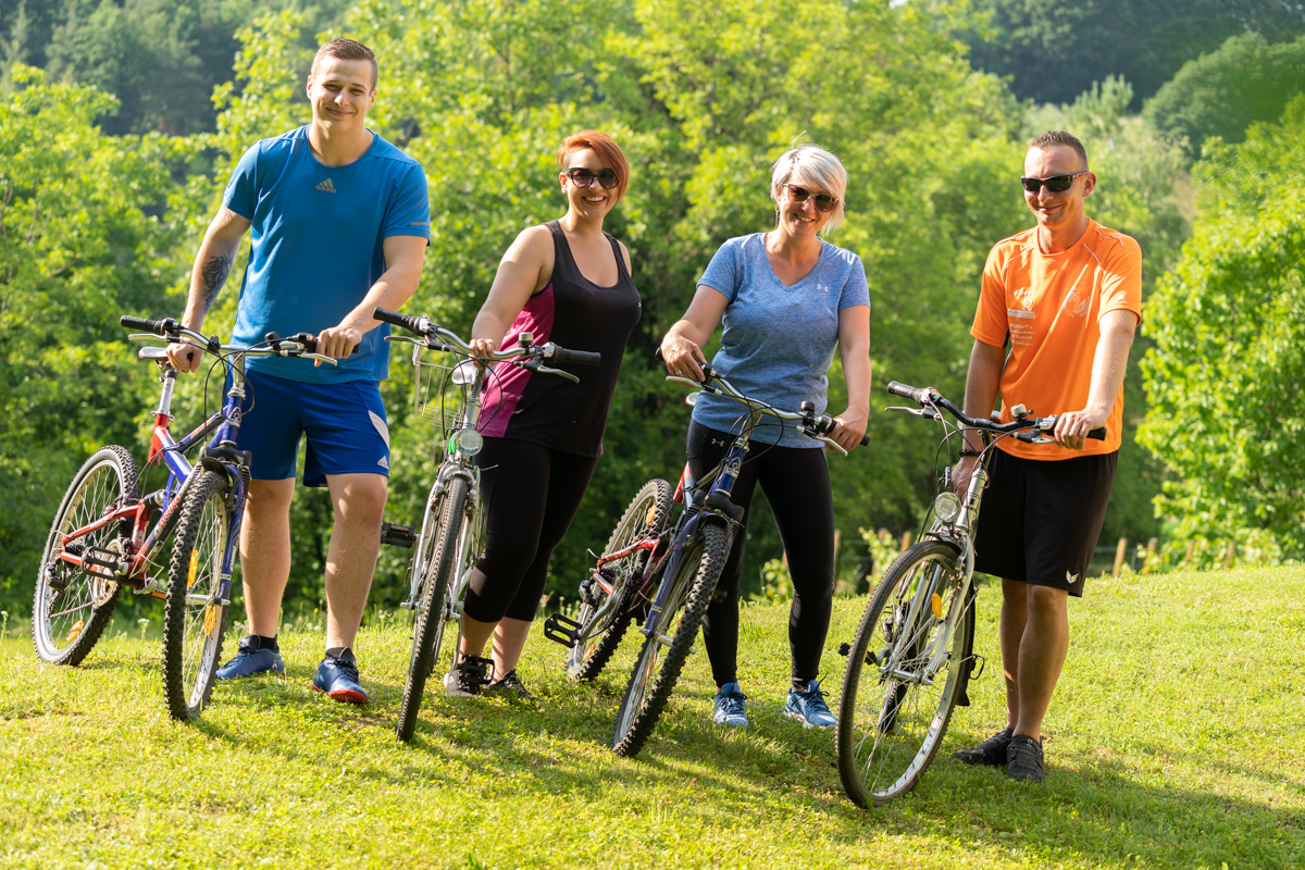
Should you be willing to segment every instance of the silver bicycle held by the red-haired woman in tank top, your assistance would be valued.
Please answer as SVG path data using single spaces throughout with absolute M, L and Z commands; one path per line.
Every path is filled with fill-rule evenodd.
M 472 361 L 471 346 L 429 317 L 408 317 L 384 308 L 377 308 L 372 317 L 422 337 L 390 335 L 386 340 L 414 346 L 412 364 L 418 369 L 416 416 L 438 423 L 448 433 L 445 457 L 425 500 L 422 528 L 416 532 L 416 548 L 408 566 L 408 597 L 401 605 L 412 610 L 412 652 L 395 725 L 398 738 L 407 742 L 416 730 L 425 682 L 440 657 L 445 626 L 461 621 L 467 582 L 480 556 L 480 468 L 475 464 L 475 457 L 484 446 L 484 440 L 476 430 L 476 424 L 480 420 L 482 386 L 487 373 L 492 374 L 492 370 Z M 429 407 L 436 402 L 432 394 L 438 395 L 442 402 L 444 387 L 442 383 L 436 386 L 431 378 L 423 378 L 423 368 L 436 368 L 422 360 L 423 351 L 463 357 L 448 376 L 454 385 L 462 387 L 461 406 L 453 413 L 432 411 Z M 521 333 L 517 347 L 483 359 L 508 360 L 531 372 L 556 374 L 573 382 L 579 382 L 579 378 L 543 363 L 598 365 L 602 361 L 599 353 L 569 351 L 552 342 L 535 344 L 530 333 Z M 423 389 L 427 390 L 425 402 Z

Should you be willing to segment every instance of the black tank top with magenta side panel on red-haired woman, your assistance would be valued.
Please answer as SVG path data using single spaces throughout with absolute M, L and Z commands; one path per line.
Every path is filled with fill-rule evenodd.
M 491 438 L 515 438 L 596 457 L 625 342 L 642 313 L 639 292 L 616 239 L 603 233 L 616 257 L 616 283 L 599 287 L 581 274 L 561 226 L 556 220 L 544 226 L 553 233 L 553 279 L 521 309 L 502 347 L 515 347 L 518 335 L 532 333 L 538 344 L 555 342 L 572 351 L 596 351 L 603 363 L 553 365 L 573 373 L 579 383 L 499 363 L 496 377 L 485 378 L 479 428 Z

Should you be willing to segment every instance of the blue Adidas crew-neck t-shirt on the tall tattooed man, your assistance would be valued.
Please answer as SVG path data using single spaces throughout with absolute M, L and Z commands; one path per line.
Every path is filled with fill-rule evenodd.
M 262 140 L 240 158 L 222 202 L 253 232 L 232 333 L 238 344 L 338 326 L 385 273 L 386 237 L 431 239 L 422 164 L 372 137 L 348 166 L 320 163 L 307 127 Z M 358 353 L 338 365 L 266 356 L 248 367 L 309 383 L 384 381 L 389 333 L 384 323 L 367 333 Z

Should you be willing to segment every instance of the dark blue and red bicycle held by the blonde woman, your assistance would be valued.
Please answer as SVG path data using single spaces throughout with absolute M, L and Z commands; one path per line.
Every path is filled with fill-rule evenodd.
M 786 411 L 748 398 L 729 381 L 716 374 L 710 365 L 703 365 L 702 372 L 703 380 L 701 382 L 675 376 L 667 377 L 667 381 L 685 383 L 702 393 L 728 397 L 744 404 L 748 408 L 748 415 L 739 436 L 726 458 L 701 480 L 693 480 L 688 466 L 685 466 L 684 473 L 680 476 L 680 485 L 672 496 L 672 501 L 684 505 L 675 526 L 669 528 L 659 528 L 658 526 L 658 518 L 663 515 L 663 510 L 660 501 L 656 500 L 662 490 L 659 484 L 664 481 L 654 480 L 646 484 L 639 490 L 641 496 L 651 488 L 652 501 L 645 513 L 646 518 L 651 515 L 651 519 L 645 523 L 645 531 L 630 535 L 633 540 L 620 549 L 612 550 L 612 543 L 621 544 L 621 539 L 626 533 L 622 531 L 622 524 L 619 523 L 608 552 L 599 558 L 598 567 L 589 578 L 592 583 L 591 596 L 596 597 L 596 593 L 592 592 L 594 587 L 607 595 L 606 603 L 599 600 L 598 604 L 591 605 L 591 625 L 595 625 L 603 613 L 613 614 L 611 618 L 615 620 L 606 634 L 596 637 L 612 635 L 620 625 L 620 618 L 629 621 L 638 610 L 646 613 L 639 629 L 643 644 L 621 698 L 616 713 L 616 727 L 612 732 L 612 751 L 617 755 L 634 755 L 642 749 L 666 708 L 671 690 L 675 687 L 684 661 L 698 637 L 698 627 L 702 625 L 711 596 L 715 595 L 716 582 L 720 579 L 720 571 L 729 556 L 729 548 L 733 545 L 735 535 L 741 528 L 743 507 L 731 502 L 729 497 L 748 454 L 752 433 L 760 425 L 761 419 L 771 416 L 786 423 L 795 423 L 803 434 L 847 455 L 847 451 L 838 442 L 825 437 L 834 429 L 834 419 L 825 413 L 817 415 L 813 403 L 803 402 L 797 412 Z M 869 438 L 863 437 L 861 443 L 869 443 Z M 634 511 L 637 520 L 639 503 L 637 496 L 630 509 L 626 510 L 622 523 L 630 518 L 632 511 Z M 668 506 L 664 513 L 669 513 Z M 626 524 L 624 528 L 629 527 Z M 629 560 L 632 556 L 636 557 L 636 561 L 629 563 L 621 575 L 615 577 L 617 580 L 624 577 L 624 587 L 619 582 L 606 582 L 603 570 L 622 560 Z M 633 582 L 636 577 L 638 577 L 638 582 Z M 616 605 L 611 604 L 613 600 Z M 604 604 L 607 604 L 606 610 Z M 620 631 L 624 633 L 624 630 L 621 626 Z M 595 637 L 592 630 L 589 634 L 585 631 L 583 626 L 573 629 L 576 640 Z M 616 634 L 615 640 L 609 644 L 611 648 L 606 652 L 608 656 L 611 650 L 615 650 L 615 642 L 619 640 L 620 635 Z M 600 644 L 602 642 L 599 642 Z M 579 644 L 573 643 L 573 647 L 576 646 Z M 664 656 L 662 655 L 663 648 L 666 650 Z M 592 659 L 590 663 L 592 665 Z

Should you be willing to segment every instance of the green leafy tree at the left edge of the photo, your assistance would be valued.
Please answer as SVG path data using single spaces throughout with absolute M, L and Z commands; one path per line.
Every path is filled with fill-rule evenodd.
M 149 372 L 117 317 L 163 308 L 184 142 L 91 127 L 112 98 L 13 69 L 0 98 L 0 600 L 29 590 L 67 481 L 104 442 L 138 445 Z

